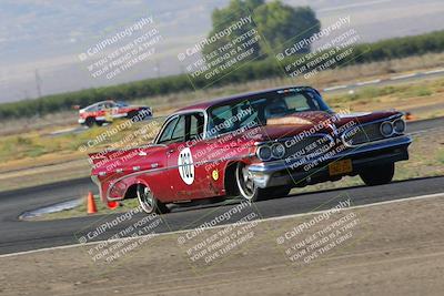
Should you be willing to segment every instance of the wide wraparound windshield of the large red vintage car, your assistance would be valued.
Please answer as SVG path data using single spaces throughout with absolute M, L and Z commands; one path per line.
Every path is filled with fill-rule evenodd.
M 208 136 L 265 125 L 269 119 L 306 111 L 330 109 L 315 91 L 294 89 L 216 105 L 209 111 Z

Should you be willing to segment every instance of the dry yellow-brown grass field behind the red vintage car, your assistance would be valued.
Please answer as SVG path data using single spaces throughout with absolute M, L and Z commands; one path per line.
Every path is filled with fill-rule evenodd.
M 211 98 L 291 83 L 325 88 L 344 82 L 353 83 L 376 76 L 384 78 L 393 73 L 405 73 L 405 71 L 412 70 L 420 71 L 443 65 L 444 53 L 426 54 L 403 60 L 327 70 L 321 72 L 313 81 L 294 82 L 287 79 L 271 79 L 175 95 L 147 98 L 135 103 L 153 106 L 158 116 L 155 126 L 160 126 L 163 120 L 162 116 L 170 114 L 175 109 Z M 397 109 L 411 111 L 416 119 L 437 118 L 444 115 L 444 79 L 421 79 L 394 85 L 365 86 L 352 93 L 325 93 L 324 99 L 336 110 L 375 111 Z M 157 129 L 150 122 L 138 123 L 123 132 L 119 132 L 108 141 L 81 151 L 80 147 L 85 145 L 88 141 L 112 129 L 119 122 L 78 133 L 51 135 L 56 131 L 78 127 L 75 120 L 77 112 L 72 111 L 56 113 L 42 119 L 0 122 L 0 190 L 6 191 L 23 186 L 23 182 L 17 177 L 18 175 L 27 176 L 27 186 L 44 184 L 53 181 L 54 177 L 61 181 L 88 176 L 90 167 L 85 161 L 87 153 L 115 145 L 125 135 L 142 130 L 147 125 L 150 125 L 152 134 L 155 134 Z M 123 144 L 137 145 L 145 144 L 145 142 L 148 141 Z

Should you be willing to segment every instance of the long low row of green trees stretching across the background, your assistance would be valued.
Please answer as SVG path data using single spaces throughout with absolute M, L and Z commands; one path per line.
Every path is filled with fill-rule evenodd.
M 444 51 L 444 30 L 421 35 L 393 38 L 373 43 L 361 43 L 353 47 L 351 63 L 367 63 L 430 52 Z M 300 53 L 305 54 L 305 53 Z M 292 58 L 297 59 L 297 55 Z M 341 67 L 341 65 L 339 65 Z M 193 79 L 196 88 L 242 83 L 251 80 L 286 75 L 274 57 L 245 63 L 242 68 L 228 72 L 221 80 L 209 81 L 204 78 Z M 170 75 L 157 79 L 147 79 L 112 86 L 87 89 L 74 92 L 46 95 L 34 100 L 9 102 L 0 104 L 0 119 L 44 115 L 52 112 L 70 110 L 72 105 L 85 106 L 98 101 L 115 99 L 131 101 L 153 95 L 174 92 L 192 91 L 186 74 Z

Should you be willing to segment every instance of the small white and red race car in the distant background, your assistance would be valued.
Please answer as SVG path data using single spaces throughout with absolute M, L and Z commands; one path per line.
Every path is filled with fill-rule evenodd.
M 129 105 L 124 102 L 102 101 L 79 110 L 79 123 L 88 127 L 102 125 L 112 122 L 114 119 L 132 119 L 137 115 L 143 115 L 143 119 L 152 116 L 152 110 L 149 106 Z

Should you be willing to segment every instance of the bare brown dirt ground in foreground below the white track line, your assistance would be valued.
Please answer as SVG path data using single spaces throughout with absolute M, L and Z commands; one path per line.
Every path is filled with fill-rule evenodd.
M 178 243 L 189 233 L 150 237 L 108 263 L 93 262 L 91 245 L 0 257 L 0 294 L 442 295 L 443 207 L 444 195 L 349 208 L 294 237 L 290 235 L 294 229 L 321 214 L 242 224 L 231 233 L 226 227 L 212 228 L 200 236 L 242 231 L 252 235 L 208 263 L 193 262 L 189 256 L 193 246 Z M 311 261 L 309 256 L 291 261 L 292 245 L 300 247 L 320 231 L 332 237 L 324 232 L 329 226 L 337 235 L 335 225 L 346 232 L 344 239 L 332 238 L 336 245 L 330 249 L 324 245 L 322 253 L 317 248 L 319 256 Z M 305 242 L 311 242 L 305 247 L 316 243 Z

